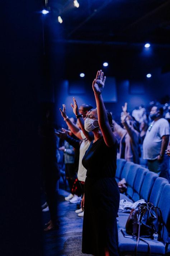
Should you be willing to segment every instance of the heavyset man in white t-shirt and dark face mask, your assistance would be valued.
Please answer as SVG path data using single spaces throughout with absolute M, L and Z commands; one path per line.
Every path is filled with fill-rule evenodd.
M 147 159 L 150 171 L 170 180 L 169 158 L 165 154 L 169 142 L 170 128 L 168 121 L 162 118 L 162 115 L 162 107 L 152 107 L 150 112 L 152 123 L 148 127 L 143 141 L 143 158 Z

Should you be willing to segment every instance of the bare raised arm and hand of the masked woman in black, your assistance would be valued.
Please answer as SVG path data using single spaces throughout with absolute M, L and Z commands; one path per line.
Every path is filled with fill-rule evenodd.
M 96 100 L 98 122 L 101 133 L 103 134 L 104 142 L 108 147 L 112 147 L 116 142 L 116 137 L 113 134 L 112 128 L 110 127 L 107 112 L 104 106 L 102 91 L 104 89 L 106 77 L 103 77 L 102 70 L 97 72 L 96 78 L 93 81 L 92 88 L 94 91 L 94 96 Z

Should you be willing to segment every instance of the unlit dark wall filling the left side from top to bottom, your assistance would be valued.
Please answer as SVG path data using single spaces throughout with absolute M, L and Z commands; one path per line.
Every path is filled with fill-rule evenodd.
M 43 83 L 41 4 L 41 0 L 1 3 L 3 256 L 42 255 L 37 136 L 38 84 Z

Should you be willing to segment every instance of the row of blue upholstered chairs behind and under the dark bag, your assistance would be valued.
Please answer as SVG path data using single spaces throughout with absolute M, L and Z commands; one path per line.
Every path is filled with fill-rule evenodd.
M 125 178 L 127 182 L 126 194 L 121 194 L 121 199 L 136 202 L 144 199 L 145 202 L 153 203 L 160 207 L 164 226 L 161 230 L 163 241 L 145 238 L 151 246 L 151 255 L 170 255 L 168 246 L 170 244 L 170 184 L 158 177 L 154 172 L 123 159 L 117 160 L 116 180 Z M 119 253 L 120 255 L 133 255 L 136 247 L 136 239 L 124 237 L 121 229 L 125 229 L 129 216 L 127 213 L 118 212 L 117 218 Z M 139 255 L 147 255 L 148 245 L 140 241 L 138 245 Z

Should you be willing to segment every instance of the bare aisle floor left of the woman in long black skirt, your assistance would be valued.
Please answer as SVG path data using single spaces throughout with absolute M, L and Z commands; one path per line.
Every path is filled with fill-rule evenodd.
M 62 187 L 62 185 L 61 185 Z M 78 205 L 65 201 L 69 192 L 58 190 L 59 229 L 44 233 L 44 256 L 82 256 L 82 221 L 75 210 Z M 48 222 L 49 212 L 43 212 L 43 224 Z M 86 254 L 87 255 L 87 254 Z M 87 255 L 88 256 L 88 255 Z

